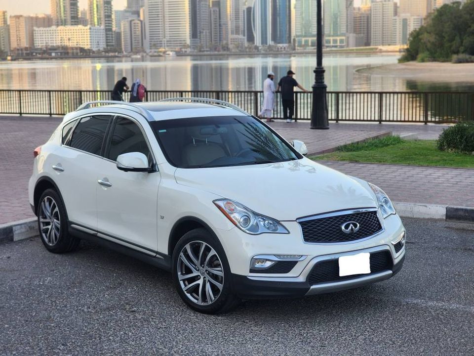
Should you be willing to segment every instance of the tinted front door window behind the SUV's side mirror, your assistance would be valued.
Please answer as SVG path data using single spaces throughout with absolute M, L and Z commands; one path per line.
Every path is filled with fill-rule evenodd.
M 141 152 L 149 160 L 151 158 L 147 141 L 138 125 L 131 120 L 118 118 L 107 158 L 117 161 L 119 155 L 129 152 Z

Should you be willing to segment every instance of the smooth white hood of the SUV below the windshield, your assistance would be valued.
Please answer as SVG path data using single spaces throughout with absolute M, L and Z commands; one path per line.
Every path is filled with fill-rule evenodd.
M 178 184 L 235 200 L 279 221 L 377 207 L 375 196 L 364 181 L 307 158 L 252 166 L 178 168 L 175 178 Z

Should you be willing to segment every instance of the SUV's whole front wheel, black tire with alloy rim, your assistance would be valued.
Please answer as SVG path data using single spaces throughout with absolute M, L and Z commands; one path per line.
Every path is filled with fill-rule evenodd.
M 197 312 L 229 312 L 239 303 L 233 293 L 231 269 L 224 249 L 204 228 L 191 230 L 181 237 L 173 251 L 171 271 L 179 296 Z M 189 277 L 183 278 L 185 275 Z

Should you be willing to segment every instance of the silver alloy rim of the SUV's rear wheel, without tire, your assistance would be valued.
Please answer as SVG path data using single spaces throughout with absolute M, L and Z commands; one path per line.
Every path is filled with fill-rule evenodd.
M 58 205 L 50 196 L 44 197 L 38 214 L 41 237 L 49 246 L 54 246 L 61 232 L 61 217 Z

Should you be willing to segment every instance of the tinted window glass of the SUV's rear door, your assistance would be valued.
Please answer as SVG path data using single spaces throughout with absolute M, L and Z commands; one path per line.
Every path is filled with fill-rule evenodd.
M 69 146 L 100 155 L 110 116 L 98 115 L 80 119 L 69 142 Z

